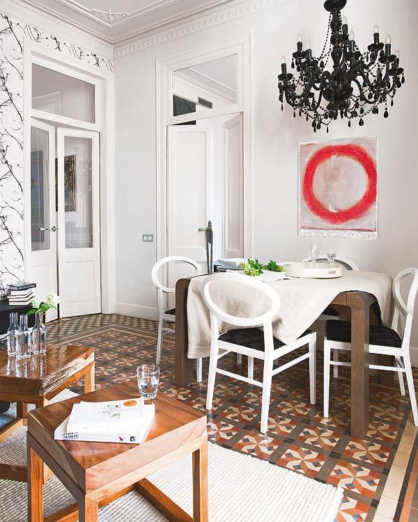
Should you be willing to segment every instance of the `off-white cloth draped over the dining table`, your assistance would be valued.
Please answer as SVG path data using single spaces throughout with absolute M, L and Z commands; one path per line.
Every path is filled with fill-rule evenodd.
M 202 286 L 206 276 L 190 281 L 187 296 L 187 326 L 189 335 L 189 358 L 210 355 L 209 310 L 203 299 Z M 337 279 L 299 279 L 265 283 L 279 294 L 280 308 L 273 319 L 274 337 L 285 344 L 295 341 L 323 313 L 323 310 L 341 292 L 357 290 L 376 297 L 380 306 L 382 322 L 390 322 L 392 311 L 392 278 L 387 274 L 366 271 L 345 271 Z M 232 315 L 256 317 L 268 308 L 268 298 L 247 285 L 230 283 L 211 287 L 215 303 Z M 237 326 L 220 324 L 221 333 Z

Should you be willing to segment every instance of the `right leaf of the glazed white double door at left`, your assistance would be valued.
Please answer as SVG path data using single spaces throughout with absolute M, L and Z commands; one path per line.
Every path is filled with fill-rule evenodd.
M 57 129 L 60 317 L 100 313 L 99 135 Z

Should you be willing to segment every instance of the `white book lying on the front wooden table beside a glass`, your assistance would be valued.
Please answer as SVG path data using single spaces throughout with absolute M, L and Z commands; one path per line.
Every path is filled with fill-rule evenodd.
M 154 404 L 142 399 L 79 402 L 56 428 L 56 441 L 119 442 L 139 444 L 155 416 Z

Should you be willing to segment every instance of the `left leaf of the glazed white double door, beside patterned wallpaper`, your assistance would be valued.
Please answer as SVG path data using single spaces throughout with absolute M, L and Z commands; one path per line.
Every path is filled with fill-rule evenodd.
M 31 120 L 31 272 L 33 294 L 44 300 L 57 292 L 55 214 L 55 129 Z M 48 310 L 47 321 L 56 319 Z

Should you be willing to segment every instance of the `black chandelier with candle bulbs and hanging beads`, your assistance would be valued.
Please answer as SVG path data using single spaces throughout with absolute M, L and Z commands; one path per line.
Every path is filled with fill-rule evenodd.
M 388 103 L 394 105 L 396 90 L 405 82 L 403 68 L 399 67 L 399 52 L 392 54 L 392 41 L 387 35 L 385 44 L 380 42 L 379 28 L 375 26 L 373 43 L 364 53 L 355 43 L 353 31 L 348 30 L 346 17 L 341 10 L 347 0 L 327 0 L 324 8 L 330 13 L 327 38 L 319 58 L 312 55 L 311 45 L 303 49 L 302 36 L 297 38 L 297 51 L 293 53 L 292 68 L 299 77 L 287 71 L 286 59 L 281 59 L 279 74 L 279 100 L 293 107 L 293 117 L 306 116 L 312 120 L 314 132 L 327 127 L 337 118 L 351 120 L 359 118 L 364 125 L 364 116 L 378 114 L 379 105 L 385 105 L 388 118 Z M 327 43 L 330 40 L 328 48 Z M 332 59 L 332 70 L 327 63 Z

